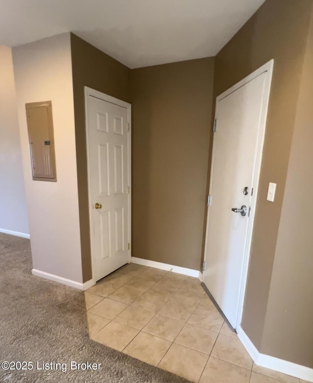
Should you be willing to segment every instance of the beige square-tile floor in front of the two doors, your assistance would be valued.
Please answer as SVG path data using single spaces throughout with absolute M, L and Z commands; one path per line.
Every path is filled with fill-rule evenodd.
M 301 382 L 254 365 L 197 278 L 130 263 L 85 300 L 91 339 L 192 382 Z

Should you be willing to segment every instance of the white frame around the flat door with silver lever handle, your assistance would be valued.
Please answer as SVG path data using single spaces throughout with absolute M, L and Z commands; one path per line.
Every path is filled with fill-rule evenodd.
M 262 65 L 262 67 L 258 68 L 256 71 L 254 71 L 251 74 L 249 74 L 248 76 L 246 76 L 244 79 L 239 81 L 237 84 L 235 84 L 231 88 L 227 89 L 220 96 L 216 97 L 215 118 L 217 117 L 217 105 L 218 105 L 217 103 L 218 103 L 218 101 L 222 100 L 224 97 L 235 92 L 238 88 L 244 86 L 249 81 L 258 77 L 260 74 L 266 72 L 265 87 L 264 87 L 264 94 L 263 94 L 263 100 L 262 100 L 262 112 L 261 112 L 261 119 L 260 119 L 260 124 L 259 124 L 259 135 L 258 135 L 258 142 L 257 142 L 256 158 L 255 158 L 255 164 L 254 164 L 254 169 L 253 169 L 253 184 L 252 184 L 253 185 L 253 196 L 251 198 L 251 211 L 250 211 L 250 216 L 249 216 L 247 235 L 246 235 L 245 254 L 244 254 L 244 260 L 243 260 L 242 271 L 241 271 L 238 314 L 237 314 L 237 320 L 236 320 L 236 329 L 237 330 L 241 326 L 242 314 L 243 314 L 243 309 L 244 309 L 244 299 L 245 299 L 245 292 L 246 292 L 246 279 L 247 279 L 248 264 L 249 264 L 249 258 L 250 258 L 250 249 L 251 249 L 251 240 L 252 240 L 252 233 L 253 233 L 255 207 L 256 207 L 256 202 L 257 202 L 257 197 L 258 197 L 258 187 L 259 187 L 259 179 L 260 179 L 261 164 L 262 164 L 262 154 L 263 154 L 265 129 L 266 129 L 266 122 L 267 122 L 267 115 L 268 115 L 268 101 L 269 101 L 269 93 L 270 93 L 270 86 L 271 86 L 272 73 L 273 73 L 273 65 L 274 65 L 274 60 L 271 59 L 266 64 Z M 212 188 L 214 141 L 215 141 L 215 137 L 213 136 L 212 167 L 211 167 L 211 172 L 210 172 L 209 195 L 211 194 L 211 188 Z M 205 235 L 204 260 L 203 260 L 204 262 L 205 262 L 205 258 L 206 258 L 208 223 L 209 223 L 209 210 L 208 210 L 207 220 L 206 220 L 206 231 L 205 231 L 206 235 Z

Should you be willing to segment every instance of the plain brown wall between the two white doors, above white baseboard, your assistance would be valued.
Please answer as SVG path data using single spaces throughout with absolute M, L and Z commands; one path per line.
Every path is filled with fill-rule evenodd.
M 131 72 L 134 257 L 200 270 L 214 58 Z

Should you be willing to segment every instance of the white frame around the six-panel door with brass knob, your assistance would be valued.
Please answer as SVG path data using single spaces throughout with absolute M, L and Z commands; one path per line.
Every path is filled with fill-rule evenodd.
M 129 193 L 128 193 L 128 242 L 130 243 L 130 247 L 128 249 L 128 263 L 132 260 L 132 105 L 129 102 L 122 101 L 118 98 L 106 95 L 105 93 L 96 91 L 87 86 L 85 89 L 85 125 L 86 125 L 86 146 L 87 146 L 87 173 L 88 173 L 88 203 L 89 203 L 89 235 L 90 235 L 90 254 L 91 254 L 91 270 L 92 270 L 92 282 L 93 285 L 96 283 L 94 280 L 94 254 L 93 254 L 93 243 L 92 243 L 92 214 L 91 214 L 91 181 L 90 181 L 90 160 L 89 160 L 89 126 L 88 126 L 88 97 L 93 96 L 96 98 L 100 98 L 103 101 L 111 102 L 112 104 L 122 106 L 127 109 L 127 122 L 129 126 L 129 134 L 128 134 L 128 168 L 127 168 L 127 177 L 128 177 L 128 185 L 129 185 Z

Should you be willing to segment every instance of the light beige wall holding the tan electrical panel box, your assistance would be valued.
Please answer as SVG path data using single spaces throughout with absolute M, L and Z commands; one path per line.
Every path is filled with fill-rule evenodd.
M 69 33 L 13 48 L 33 267 L 82 282 Z M 25 103 L 52 101 L 57 182 L 33 181 Z

